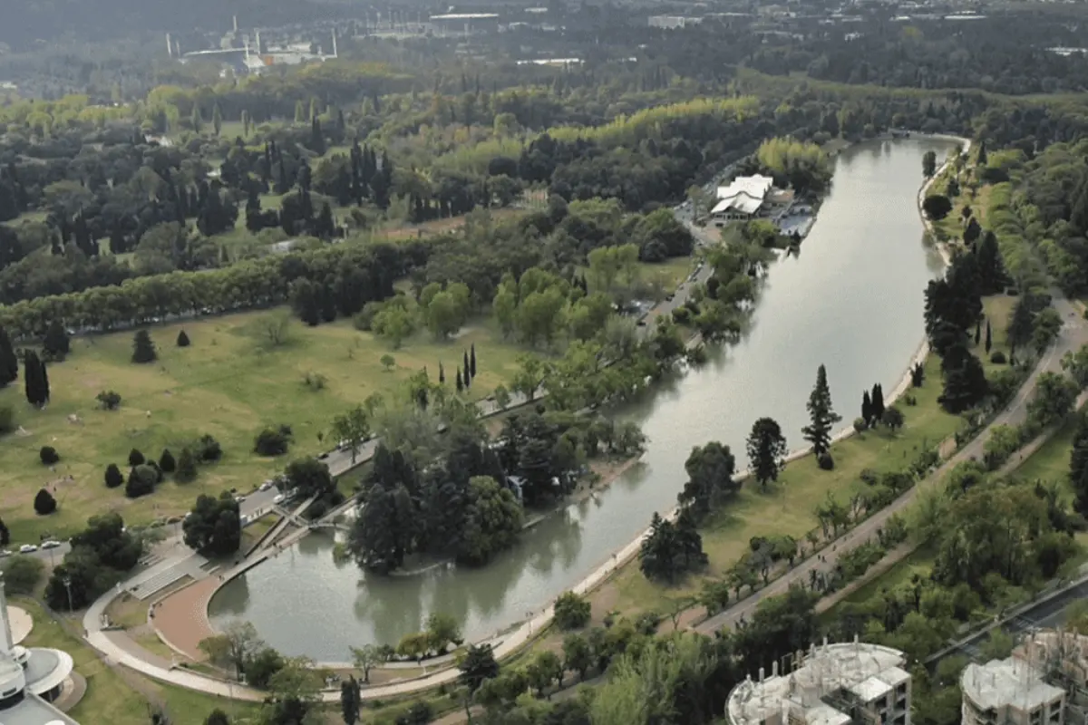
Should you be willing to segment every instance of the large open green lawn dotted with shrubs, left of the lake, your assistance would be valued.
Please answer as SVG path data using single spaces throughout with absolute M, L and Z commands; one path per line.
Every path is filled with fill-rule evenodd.
M 37 541 L 44 532 L 74 533 L 88 516 L 107 510 L 121 512 L 128 523 L 140 523 L 184 513 L 200 492 L 248 490 L 292 458 L 327 448 L 318 434 L 327 429 L 334 415 L 372 392 L 391 393 L 423 367 L 436 380 L 440 361 L 452 380 L 462 351 L 475 343 L 479 376 L 470 395 L 482 398 L 509 379 L 521 353 L 478 322 L 456 340 L 436 342 L 421 333 L 400 350 L 391 350 L 349 321 L 306 327 L 293 320 L 287 342 L 270 348 L 261 323 L 273 314 L 251 312 L 153 327 L 159 360 L 148 365 L 129 362 L 132 333 L 75 338 L 69 359 L 49 368 L 52 399 L 45 411 L 26 404 L 22 386 L 0 390 L 0 404 L 12 405 L 23 427 L 0 446 L 3 518 L 13 542 Z M 175 347 L 182 328 L 191 347 Z M 392 372 L 380 362 L 387 353 L 396 359 Z M 325 376 L 324 389 L 308 388 L 306 373 Z M 101 390 L 118 391 L 121 409 L 98 410 L 95 397 Z M 289 454 L 255 455 L 254 436 L 261 427 L 277 424 L 294 429 Z M 169 447 L 176 457 L 202 434 L 220 440 L 224 458 L 201 468 L 195 482 L 166 480 L 153 495 L 135 501 L 125 499 L 120 488 L 104 487 L 106 466 L 112 462 L 126 471 L 133 448 L 158 459 Z M 38 458 L 47 445 L 61 455 L 54 472 Z M 46 485 L 55 488 L 60 509 L 40 517 L 32 501 Z

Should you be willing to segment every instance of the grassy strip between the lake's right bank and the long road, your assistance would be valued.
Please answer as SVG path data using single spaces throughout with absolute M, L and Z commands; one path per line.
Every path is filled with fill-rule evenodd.
M 788 534 L 802 539 L 818 526 L 813 512 L 829 491 L 845 501 L 865 485 L 858 477 L 864 468 L 901 470 L 924 448 L 953 435 L 962 420 L 940 409 L 940 360 L 930 357 L 924 386 L 911 391 L 917 405 L 899 404 L 906 418 L 899 433 L 881 428 L 840 441 L 831 449 L 836 465 L 830 472 L 819 470 L 812 457 L 793 461 L 767 493 L 745 484 L 738 500 L 712 514 L 702 527 L 703 548 L 710 560 L 706 575 L 720 578 L 747 549 L 753 536 Z M 673 602 L 697 592 L 702 578 L 663 587 L 646 579 L 635 563 L 623 567 L 599 596 L 608 602 L 608 609 L 626 613 L 668 612 Z M 610 590 L 613 587 L 615 590 Z

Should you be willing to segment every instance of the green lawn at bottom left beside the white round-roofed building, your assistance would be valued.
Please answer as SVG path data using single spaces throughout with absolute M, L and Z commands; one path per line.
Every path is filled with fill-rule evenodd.
M 149 700 L 165 705 L 173 725 L 201 725 L 217 707 L 228 713 L 233 707 L 233 712 L 240 717 L 257 713 L 257 708 L 249 703 L 232 705 L 221 698 L 161 685 L 133 672 L 111 667 L 95 650 L 61 628 L 37 603 L 25 599 L 16 603 L 34 617 L 34 629 L 25 643 L 64 650 L 75 661 L 76 672 L 87 679 L 86 695 L 69 713 L 82 723 L 146 725 Z

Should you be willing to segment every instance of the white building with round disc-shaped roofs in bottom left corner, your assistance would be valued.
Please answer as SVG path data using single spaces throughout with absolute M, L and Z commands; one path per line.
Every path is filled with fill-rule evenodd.
M 73 662 L 61 650 L 14 643 L 0 577 L 0 723 L 78 725 L 51 702 L 70 685 Z

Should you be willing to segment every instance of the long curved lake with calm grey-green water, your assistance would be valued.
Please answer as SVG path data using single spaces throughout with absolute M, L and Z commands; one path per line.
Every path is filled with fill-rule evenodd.
M 743 468 L 745 437 L 764 415 L 781 424 L 791 449 L 803 447 L 805 402 L 820 363 L 849 425 L 862 391 L 877 382 L 893 388 L 922 342 L 923 290 L 942 268 L 923 246 L 922 157 L 932 150 L 942 159 L 955 148 L 912 138 L 842 153 L 801 254 L 771 266 L 750 334 L 618 412 L 638 422 L 650 443 L 642 464 L 597 500 L 549 516 L 480 570 L 379 577 L 334 563 L 332 536 L 311 534 L 223 587 L 211 602 L 212 623 L 249 620 L 281 652 L 319 662 L 349 660 L 349 646 L 395 645 L 436 611 L 457 617 L 471 641 L 491 637 L 584 578 L 655 511 L 670 510 L 692 447 L 720 440 Z

